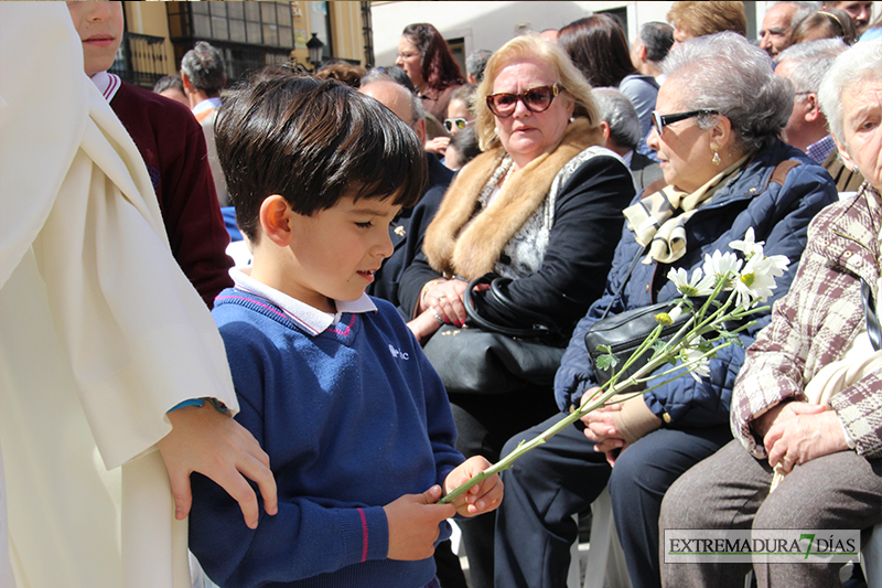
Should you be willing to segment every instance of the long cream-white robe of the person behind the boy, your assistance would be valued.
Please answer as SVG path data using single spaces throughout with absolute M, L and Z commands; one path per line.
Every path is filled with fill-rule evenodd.
M 189 586 L 155 442 L 200 396 L 238 408 L 65 4 L 0 2 L 0 499 L 19 587 Z

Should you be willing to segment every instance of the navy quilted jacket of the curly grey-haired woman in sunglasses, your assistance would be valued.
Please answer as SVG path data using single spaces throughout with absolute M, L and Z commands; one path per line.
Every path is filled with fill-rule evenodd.
M 798 161 L 783 177 L 783 184 L 773 181 L 778 163 Z M 784 168 L 774 173 L 777 180 Z M 744 238 L 753 227 L 755 239 L 765 242 L 766 255 L 785 255 L 790 260 L 787 272 L 777 280 L 771 303 L 790 286 L 803 249 L 806 246 L 808 223 L 826 205 L 838 199 L 829 174 L 805 153 L 781 141 L 759 152 L 744 172 L 717 191 L 710 204 L 699 210 L 686 224 L 687 254 L 674 265 L 637 263 L 610 314 L 679 297 L 667 280 L 670 267 L 681 267 L 690 275 L 701 267 L 704 254 L 716 249 L 731 250 L 729 243 Z M 579 321 L 555 378 L 555 396 L 562 410 L 578 406 L 582 393 L 594 386 L 594 374 L 588 360 L 585 331 L 603 314 L 613 293 L 625 278 L 631 260 L 643 247 L 625 226 L 613 258 L 604 295 Z M 658 290 L 656 292 L 656 290 Z M 745 348 L 756 332 L 768 323 L 768 312 L 754 316 L 757 324 L 742 335 Z M 644 395 L 649 409 L 667 426 L 709 427 L 729 423 L 729 406 L 735 376 L 744 361 L 744 350 L 730 346 L 711 361 L 710 376 L 696 382 L 680 377 Z

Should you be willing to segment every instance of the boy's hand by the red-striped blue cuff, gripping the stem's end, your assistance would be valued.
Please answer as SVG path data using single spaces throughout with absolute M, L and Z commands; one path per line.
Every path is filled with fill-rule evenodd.
M 452 504 L 435 504 L 441 487 L 422 494 L 405 494 L 383 507 L 389 525 L 389 559 L 417 562 L 434 554 L 441 521 L 456 514 Z

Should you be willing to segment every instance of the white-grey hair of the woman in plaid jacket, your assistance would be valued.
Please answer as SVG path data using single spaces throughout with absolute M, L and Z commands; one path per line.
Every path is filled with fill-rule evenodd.
M 842 93 L 865 79 L 882 79 L 882 39 L 861 41 L 840 53 L 818 89 L 820 110 L 827 117 L 827 125 L 833 137 L 843 145 L 846 135 Z

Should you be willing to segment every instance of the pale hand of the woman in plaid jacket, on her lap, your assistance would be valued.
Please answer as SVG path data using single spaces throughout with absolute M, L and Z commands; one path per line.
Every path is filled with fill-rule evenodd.
M 839 418 L 822 405 L 787 403 L 763 438 L 768 464 L 788 473 L 805 463 L 848 449 Z

